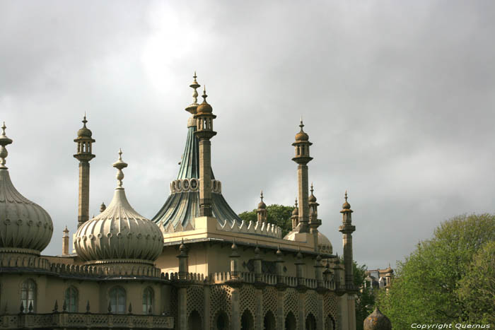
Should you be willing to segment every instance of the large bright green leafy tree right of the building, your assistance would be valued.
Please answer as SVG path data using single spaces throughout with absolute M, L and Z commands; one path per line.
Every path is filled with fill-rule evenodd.
M 489 214 L 458 216 L 441 223 L 431 240 L 419 243 L 397 264 L 388 293 L 378 295 L 378 306 L 392 327 L 408 329 L 413 323 L 452 324 L 473 319 L 470 315 L 477 312 L 470 310 L 460 287 L 470 276 L 475 255 L 494 240 L 495 216 Z

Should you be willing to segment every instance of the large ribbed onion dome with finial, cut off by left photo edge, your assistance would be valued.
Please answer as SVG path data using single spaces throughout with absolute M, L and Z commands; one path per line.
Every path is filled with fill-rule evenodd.
M 0 135 L 0 252 L 40 254 L 52 239 L 53 223 L 41 206 L 26 199 L 11 182 L 5 146 L 12 143 Z

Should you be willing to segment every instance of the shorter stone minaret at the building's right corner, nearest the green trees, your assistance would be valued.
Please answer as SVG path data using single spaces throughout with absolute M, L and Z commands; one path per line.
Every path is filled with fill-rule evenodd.
M 342 232 L 342 240 L 344 244 L 344 268 L 345 283 L 347 290 L 354 290 L 354 276 L 352 271 L 352 233 L 356 230 L 356 226 L 352 225 L 351 220 L 351 204 L 347 202 L 347 191 L 345 194 L 345 202 L 342 204 L 342 225 L 339 226 L 339 232 Z

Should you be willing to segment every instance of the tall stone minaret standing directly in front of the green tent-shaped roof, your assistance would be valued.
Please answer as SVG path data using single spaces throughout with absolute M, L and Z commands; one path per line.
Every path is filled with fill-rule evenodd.
M 198 105 L 194 119 L 196 128 L 194 135 L 199 139 L 199 216 L 213 216 L 211 212 L 211 141 L 216 135 L 213 130 L 214 115 L 211 105 L 206 102 L 206 88 L 203 91 L 203 102 Z

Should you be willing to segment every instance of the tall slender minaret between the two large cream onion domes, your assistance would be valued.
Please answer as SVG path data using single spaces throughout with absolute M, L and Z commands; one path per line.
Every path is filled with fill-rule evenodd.
M 86 114 L 83 119 L 83 127 L 77 131 L 77 153 L 74 158 L 79 160 L 79 206 L 77 216 L 77 227 L 89 220 L 89 162 L 95 155 L 91 153 L 91 144 L 95 142 L 91 138 L 91 131 L 86 127 Z

